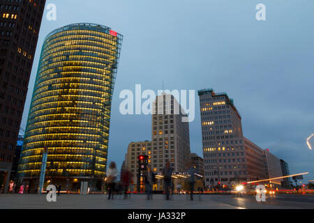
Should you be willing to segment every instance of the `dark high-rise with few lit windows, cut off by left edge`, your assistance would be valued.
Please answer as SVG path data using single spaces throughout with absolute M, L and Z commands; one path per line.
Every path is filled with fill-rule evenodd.
M 45 0 L 0 1 L 0 187 L 8 188 Z

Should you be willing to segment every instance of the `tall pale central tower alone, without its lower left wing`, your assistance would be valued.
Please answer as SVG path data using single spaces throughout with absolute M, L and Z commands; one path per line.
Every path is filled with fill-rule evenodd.
M 190 134 L 184 109 L 173 95 L 157 96 L 152 106 L 151 164 L 154 172 L 161 172 L 167 160 L 174 172 L 185 171 L 190 165 Z

